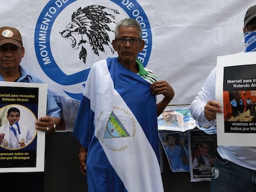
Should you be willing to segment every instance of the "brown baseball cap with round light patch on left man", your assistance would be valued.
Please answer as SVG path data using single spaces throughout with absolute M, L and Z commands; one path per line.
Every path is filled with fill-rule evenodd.
M 15 44 L 15 46 L 22 48 L 22 36 L 17 28 L 0 27 L 0 46 L 6 43 Z

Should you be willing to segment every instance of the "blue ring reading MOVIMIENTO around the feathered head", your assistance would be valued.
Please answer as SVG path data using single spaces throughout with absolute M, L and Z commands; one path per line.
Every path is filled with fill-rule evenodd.
M 87 80 L 88 73 L 90 72 L 90 69 L 82 70 L 80 72 L 74 73 L 72 75 L 66 75 L 62 70 L 58 67 L 56 64 L 56 61 L 54 60 L 53 54 L 51 52 L 51 44 L 50 44 L 50 35 L 51 35 L 51 28 L 53 27 L 53 23 L 56 19 L 56 17 L 59 15 L 59 13 L 64 10 L 69 4 L 72 2 L 75 2 L 77 0 L 69 0 L 66 3 L 63 4 L 61 7 L 56 7 L 56 4 L 54 2 L 56 1 L 49 1 L 44 9 L 41 11 L 40 16 L 38 17 L 38 20 L 36 22 L 36 27 L 35 27 L 35 36 L 34 36 L 34 46 L 35 46 L 35 53 L 36 53 L 36 58 L 40 64 L 41 69 L 45 74 L 51 78 L 51 80 L 55 81 L 56 83 L 59 83 L 60 85 L 74 85 L 77 83 L 82 83 L 83 81 Z M 126 13 L 129 15 L 130 18 L 136 19 L 134 15 L 132 15 L 132 12 L 129 12 L 126 9 L 126 6 L 124 4 L 119 4 L 119 1 L 117 0 L 110 0 L 114 3 L 116 3 L 118 6 L 122 7 L 126 11 Z M 147 15 L 143 11 L 142 7 L 137 1 L 132 2 L 134 3 L 135 7 L 140 11 L 140 16 L 143 17 L 143 22 L 145 22 L 147 26 L 147 33 L 148 33 L 148 39 L 151 40 L 149 41 L 150 43 L 148 44 L 148 52 L 147 52 L 147 57 L 145 57 L 145 60 L 143 61 L 143 65 L 146 66 L 148 63 L 148 60 L 150 58 L 150 53 L 151 53 L 151 44 L 152 44 L 152 37 L 151 37 L 151 28 L 150 28 L 150 23 L 148 22 Z M 45 36 L 45 46 L 46 50 L 48 51 L 48 57 L 49 61 L 51 61 L 51 64 L 44 64 L 44 57 L 41 56 L 41 51 L 40 51 L 40 25 L 43 23 L 43 19 L 48 12 L 50 7 L 55 7 L 56 8 L 56 13 L 52 14 L 51 16 L 51 22 L 49 22 L 48 28 L 49 30 L 46 30 Z M 57 75 L 58 74 L 58 75 Z

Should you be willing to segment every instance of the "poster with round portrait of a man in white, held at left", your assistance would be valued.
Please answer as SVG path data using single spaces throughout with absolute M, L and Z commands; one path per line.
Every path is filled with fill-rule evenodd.
M 0 172 L 43 172 L 47 85 L 0 81 Z

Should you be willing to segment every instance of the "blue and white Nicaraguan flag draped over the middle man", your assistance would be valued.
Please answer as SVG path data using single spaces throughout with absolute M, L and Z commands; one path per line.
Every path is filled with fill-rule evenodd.
M 88 149 L 90 191 L 163 191 L 156 98 L 117 58 L 90 70 L 74 135 Z

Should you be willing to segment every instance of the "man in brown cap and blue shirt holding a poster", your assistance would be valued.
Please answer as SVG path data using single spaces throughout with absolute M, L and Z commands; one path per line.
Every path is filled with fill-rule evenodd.
M 42 83 L 39 78 L 30 74 L 20 65 L 25 54 L 20 31 L 14 27 L 0 27 L 0 81 L 23 83 Z M 48 90 L 46 116 L 35 122 L 35 128 L 51 133 L 56 130 L 60 122 L 60 111 L 53 92 Z M 43 191 L 43 173 L 1 173 L 1 183 L 14 181 L 14 185 L 6 186 L 2 191 Z

